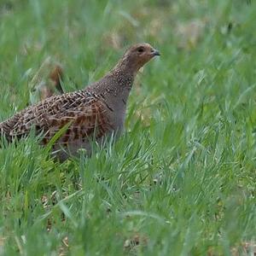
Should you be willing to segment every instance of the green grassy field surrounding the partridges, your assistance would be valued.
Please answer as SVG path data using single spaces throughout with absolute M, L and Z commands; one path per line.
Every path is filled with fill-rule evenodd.
M 71 91 L 130 44 L 161 52 L 117 143 L 62 164 L 34 137 L 0 149 L 0 254 L 253 255 L 255 31 L 255 1 L 0 0 L 0 120 L 48 56 Z

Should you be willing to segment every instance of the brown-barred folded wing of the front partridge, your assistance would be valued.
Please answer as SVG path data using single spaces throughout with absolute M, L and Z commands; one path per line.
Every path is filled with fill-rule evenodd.
M 37 105 L 26 108 L 0 124 L 7 137 L 23 137 L 32 129 L 44 133 L 44 143 L 62 127 L 67 130 L 61 136 L 62 143 L 73 139 L 84 139 L 93 134 L 101 137 L 109 129 L 106 106 L 95 95 L 79 91 L 52 96 Z

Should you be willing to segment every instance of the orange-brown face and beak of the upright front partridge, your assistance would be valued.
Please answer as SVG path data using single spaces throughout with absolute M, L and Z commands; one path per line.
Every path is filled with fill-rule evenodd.
M 131 46 L 131 48 L 126 51 L 124 59 L 137 71 L 154 56 L 158 55 L 160 55 L 160 52 L 157 49 L 154 49 L 150 44 L 143 43 Z

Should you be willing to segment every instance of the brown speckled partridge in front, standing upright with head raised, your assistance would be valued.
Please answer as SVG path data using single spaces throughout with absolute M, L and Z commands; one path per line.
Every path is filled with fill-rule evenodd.
M 12 143 L 35 131 L 46 146 L 62 131 L 51 148 L 59 160 L 78 155 L 79 148 L 90 155 L 92 141 L 101 143 L 108 135 L 119 137 L 124 131 L 127 100 L 137 72 L 158 55 L 159 50 L 148 43 L 131 45 L 110 72 L 84 90 L 49 96 L 0 123 L 1 136 Z

